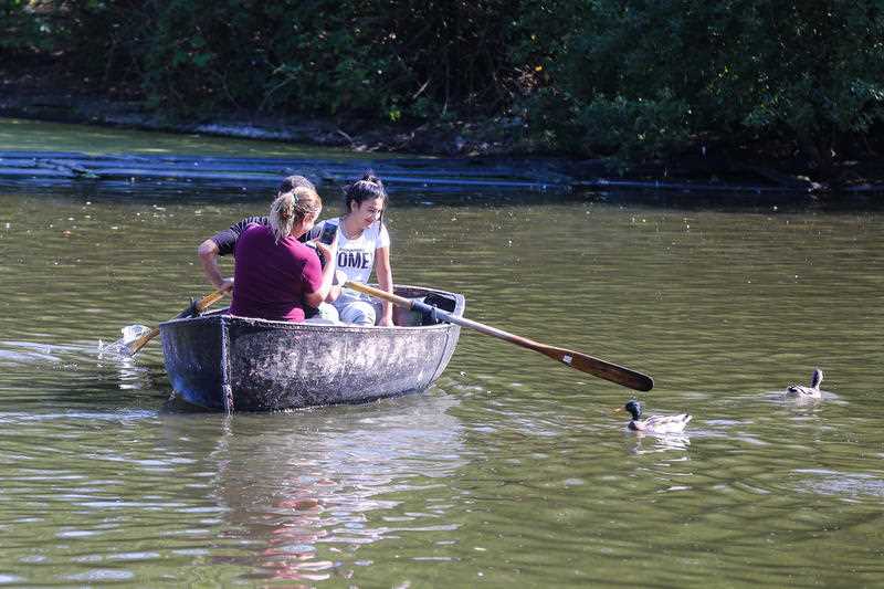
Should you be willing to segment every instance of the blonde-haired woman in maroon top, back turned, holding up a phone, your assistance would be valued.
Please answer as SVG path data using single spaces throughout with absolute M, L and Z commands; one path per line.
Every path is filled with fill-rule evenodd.
M 274 199 L 269 224 L 249 223 L 236 240 L 231 315 L 303 322 L 304 304 L 318 307 L 332 288 L 335 264 L 322 267 L 314 250 L 298 241 L 323 210 L 315 190 L 298 187 Z M 314 242 L 335 260 L 336 241 Z

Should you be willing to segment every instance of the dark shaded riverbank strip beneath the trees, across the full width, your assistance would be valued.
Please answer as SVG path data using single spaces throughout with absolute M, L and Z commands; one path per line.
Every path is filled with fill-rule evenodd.
M 53 84 L 38 76 L 0 75 L 0 116 L 88 124 L 126 129 L 198 134 L 285 141 L 335 148 L 362 155 L 388 152 L 443 156 L 514 166 L 543 162 L 572 178 L 575 186 L 652 190 L 777 190 L 797 193 L 884 193 L 884 161 L 840 160 L 822 176 L 788 146 L 774 141 L 725 149 L 714 140 L 665 160 L 623 162 L 583 159 L 549 152 L 528 133 L 519 117 L 420 125 L 378 124 L 357 118 L 297 118 L 251 112 L 219 113 L 185 120 L 152 112 L 131 95 L 107 94 Z

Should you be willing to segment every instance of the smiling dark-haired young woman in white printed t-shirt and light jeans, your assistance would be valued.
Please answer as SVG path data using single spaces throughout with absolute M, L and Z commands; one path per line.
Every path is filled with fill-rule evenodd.
M 337 219 L 318 223 L 311 239 L 337 235 L 335 263 L 347 280 L 368 282 L 377 264 L 378 285 L 392 293 L 393 275 L 390 267 L 390 234 L 383 224 L 387 191 L 379 178 L 367 172 L 361 179 L 345 188 L 345 213 Z M 323 240 L 317 240 L 323 241 Z M 327 241 L 327 240 L 326 240 Z M 326 257 L 328 260 L 328 257 Z M 340 320 L 357 325 L 392 325 L 392 306 L 370 297 L 333 286 L 327 298 L 338 311 Z

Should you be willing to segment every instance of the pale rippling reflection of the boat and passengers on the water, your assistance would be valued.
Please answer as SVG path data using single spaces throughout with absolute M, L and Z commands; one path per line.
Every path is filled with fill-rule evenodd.
M 445 520 L 450 502 L 435 499 L 449 496 L 445 480 L 465 462 L 462 425 L 449 411 L 456 402 L 436 390 L 364 406 L 164 421 L 170 439 L 211 444 L 204 460 L 225 512 L 223 535 L 246 547 L 225 561 L 256 569 L 250 579 L 318 581 L 346 576 L 335 569 L 358 565 L 360 546 L 456 528 Z

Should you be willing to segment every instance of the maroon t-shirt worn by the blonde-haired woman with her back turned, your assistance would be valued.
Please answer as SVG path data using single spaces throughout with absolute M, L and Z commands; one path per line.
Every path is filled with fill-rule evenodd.
M 241 317 L 303 322 L 304 293 L 323 284 L 319 259 L 295 238 L 275 243 L 273 231 L 250 224 L 236 240 L 233 303 Z

